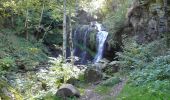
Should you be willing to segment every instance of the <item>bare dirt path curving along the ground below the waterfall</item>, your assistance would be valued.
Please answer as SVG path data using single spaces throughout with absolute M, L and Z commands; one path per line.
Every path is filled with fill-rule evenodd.
M 111 92 L 105 95 L 99 94 L 95 91 L 97 85 L 89 86 L 87 89 L 85 89 L 84 95 L 81 96 L 79 100 L 115 100 L 126 82 L 127 79 L 122 79 L 121 82 L 112 87 Z

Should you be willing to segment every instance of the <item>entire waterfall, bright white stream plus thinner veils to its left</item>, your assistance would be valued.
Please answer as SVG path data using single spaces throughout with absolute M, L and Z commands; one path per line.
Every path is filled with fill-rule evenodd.
M 96 35 L 91 35 L 98 30 Z M 93 61 L 97 63 L 103 57 L 104 45 L 108 36 L 108 32 L 102 30 L 102 25 L 93 22 L 92 25 L 82 25 L 78 27 L 73 35 L 74 39 L 74 56 L 79 57 L 80 60 L 76 64 L 87 64 L 88 61 Z M 96 37 L 97 54 L 93 57 L 92 52 L 95 48 L 90 47 L 90 36 Z M 95 45 L 95 44 L 93 44 Z

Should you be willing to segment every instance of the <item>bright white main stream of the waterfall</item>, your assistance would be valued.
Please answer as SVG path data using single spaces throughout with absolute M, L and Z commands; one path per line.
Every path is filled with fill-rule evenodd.
M 108 32 L 102 31 L 102 25 L 96 22 L 96 27 L 98 29 L 97 33 L 97 42 L 98 42 L 98 48 L 97 48 L 97 54 L 94 58 L 94 63 L 99 62 L 103 57 L 103 50 L 104 50 L 104 44 L 108 36 Z

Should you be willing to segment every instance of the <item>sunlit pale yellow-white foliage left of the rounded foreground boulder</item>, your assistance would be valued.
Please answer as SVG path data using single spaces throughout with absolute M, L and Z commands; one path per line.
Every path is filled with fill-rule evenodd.
M 6 78 L 26 100 L 52 98 L 61 84 L 70 78 L 78 78 L 83 71 L 69 63 L 63 63 L 62 57 L 50 59 L 50 65 L 47 65 L 49 67 L 25 73 L 10 72 Z

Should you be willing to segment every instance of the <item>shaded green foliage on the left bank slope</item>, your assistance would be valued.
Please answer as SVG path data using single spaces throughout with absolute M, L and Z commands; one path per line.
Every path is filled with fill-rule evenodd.
M 31 43 L 13 33 L 4 33 L 0 37 L 1 68 L 34 69 L 40 62 L 47 62 L 47 50 L 41 43 Z M 12 68 L 13 67 L 13 68 Z

